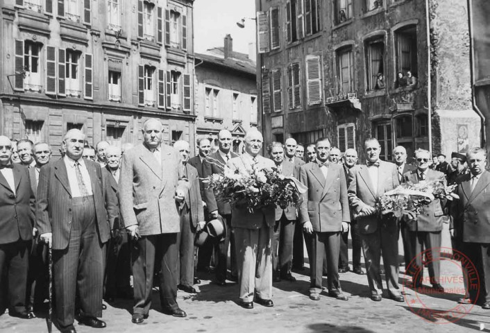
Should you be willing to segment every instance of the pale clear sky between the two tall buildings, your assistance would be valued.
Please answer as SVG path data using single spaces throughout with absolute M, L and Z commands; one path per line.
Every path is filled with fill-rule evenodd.
M 255 42 L 255 21 L 245 19 L 245 28 L 237 21 L 255 17 L 255 0 L 194 1 L 194 48 L 203 53 L 223 46 L 227 33 L 233 38 L 233 51 L 248 53 L 248 43 Z

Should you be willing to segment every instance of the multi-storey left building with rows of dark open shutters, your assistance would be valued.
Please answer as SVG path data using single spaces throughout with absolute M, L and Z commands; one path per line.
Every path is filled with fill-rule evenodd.
M 80 128 L 90 144 L 194 140 L 194 0 L 3 0 L 0 131 L 46 141 Z

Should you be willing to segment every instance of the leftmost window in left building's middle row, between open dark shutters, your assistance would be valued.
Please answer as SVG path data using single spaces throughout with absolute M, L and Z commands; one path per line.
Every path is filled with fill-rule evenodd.
M 41 92 L 40 53 L 42 44 L 24 41 L 24 89 L 31 92 Z

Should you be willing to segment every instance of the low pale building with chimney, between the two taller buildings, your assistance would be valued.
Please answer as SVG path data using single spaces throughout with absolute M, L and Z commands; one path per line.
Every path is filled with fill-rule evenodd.
M 218 145 L 218 133 L 230 130 L 233 151 L 243 147 L 246 131 L 257 127 L 255 47 L 251 53 L 233 51 L 226 35 L 223 47 L 196 53 L 196 136 Z

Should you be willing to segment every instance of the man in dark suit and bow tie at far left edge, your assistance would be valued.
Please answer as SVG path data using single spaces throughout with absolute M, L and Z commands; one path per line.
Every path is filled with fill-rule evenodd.
M 0 136 L 0 314 L 34 318 L 26 311 L 28 253 L 33 239 L 34 202 L 29 174 L 12 164 L 12 143 Z M 7 280 L 3 280 L 6 278 Z M 6 292 L 6 295 L 3 293 Z

